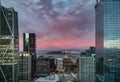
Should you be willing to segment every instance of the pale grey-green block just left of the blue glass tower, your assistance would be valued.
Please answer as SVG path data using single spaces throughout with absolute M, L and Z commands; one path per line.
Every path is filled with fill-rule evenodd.
M 82 56 L 79 59 L 79 82 L 95 82 L 95 58 Z

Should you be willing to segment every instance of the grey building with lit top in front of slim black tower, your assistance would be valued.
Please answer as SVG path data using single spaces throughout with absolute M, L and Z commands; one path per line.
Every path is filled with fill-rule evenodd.
M 20 53 L 19 82 L 31 82 L 31 55 Z

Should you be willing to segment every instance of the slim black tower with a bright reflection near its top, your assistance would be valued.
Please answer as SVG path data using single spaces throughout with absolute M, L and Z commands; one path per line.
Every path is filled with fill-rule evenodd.
M 31 77 L 35 78 L 36 71 L 36 36 L 35 33 L 23 34 L 24 52 L 31 55 Z

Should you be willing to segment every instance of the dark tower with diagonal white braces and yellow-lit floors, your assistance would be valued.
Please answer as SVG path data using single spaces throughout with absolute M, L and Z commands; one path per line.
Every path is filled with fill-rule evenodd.
M 0 5 L 0 82 L 18 82 L 18 16 Z

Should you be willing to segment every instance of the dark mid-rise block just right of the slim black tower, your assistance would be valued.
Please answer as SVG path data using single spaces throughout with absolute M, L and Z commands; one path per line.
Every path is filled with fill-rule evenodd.
M 50 62 L 48 57 L 40 56 L 36 60 L 36 77 L 45 77 L 50 75 Z

